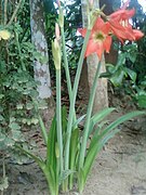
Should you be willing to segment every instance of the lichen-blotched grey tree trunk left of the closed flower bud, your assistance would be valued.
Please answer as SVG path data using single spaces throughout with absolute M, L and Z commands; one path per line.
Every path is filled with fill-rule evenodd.
M 40 60 L 34 61 L 35 79 L 39 81 L 38 92 L 41 99 L 49 99 L 51 92 L 51 79 L 49 72 L 48 43 L 44 30 L 44 10 L 42 0 L 30 0 L 30 27 L 31 41 L 40 53 Z

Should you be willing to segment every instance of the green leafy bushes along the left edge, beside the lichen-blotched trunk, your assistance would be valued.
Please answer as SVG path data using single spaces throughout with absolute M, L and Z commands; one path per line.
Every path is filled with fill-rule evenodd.
M 10 39 L 0 40 L 0 151 L 1 155 L 11 154 L 12 160 L 16 159 L 19 164 L 28 158 L 19 157 L 14 146 L 27 143 L 24 128 L 29 129 L 39 122 L 32 102 L 38 96 L 32 62 L 40 56 L 30 42 L 28 5 L 28 2 L 22 4 L 17 21 L 8 26 Z M 8 3 L 9 9 L 8 22 L 15 6 Z M 28 20 L 22 20 L 23 16 Z M 0 28 L 4 28 L 3 23 Z

